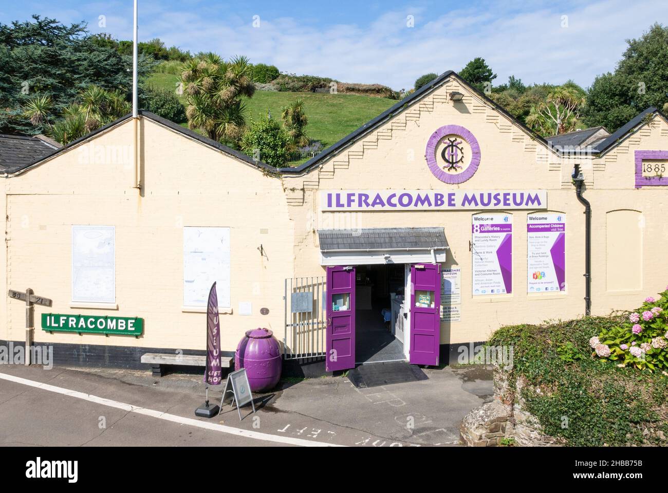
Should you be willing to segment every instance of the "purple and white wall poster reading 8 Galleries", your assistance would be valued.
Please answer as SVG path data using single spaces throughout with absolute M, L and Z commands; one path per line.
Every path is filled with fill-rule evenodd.
M 512 293 L 512 215 L 472 216 L 473 295 Z

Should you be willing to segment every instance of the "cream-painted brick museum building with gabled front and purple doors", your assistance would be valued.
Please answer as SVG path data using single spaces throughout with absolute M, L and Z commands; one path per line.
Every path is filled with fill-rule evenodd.
M 133 132 L 122 118 L 2 181 L 0 283 L 53 299 L 35 341 L 59 362 L 202 354 L 212 281 L 224 351 L 267 327 L 287 360 L 330 371 L 446 363 L 502 325 L 580 317 L 575 165 L 591 203 L 591 313 L 668 284 L 668 122 L 654 108 L 559 149 L 446 72 L 298 168 L 146 112 L 136 166 Z M 136 317 L 142 333 L 77 331 L 86 317 L 94 330 Z M 0 343 L 25 340 L 25 304 L 7 298 L 0 320 Z

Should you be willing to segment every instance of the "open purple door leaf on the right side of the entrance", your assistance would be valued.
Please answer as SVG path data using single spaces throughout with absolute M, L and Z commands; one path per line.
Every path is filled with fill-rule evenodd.
M 438 365 L 441 339 L 441 265 L 411 265 L 411 341 L 413 365 Z

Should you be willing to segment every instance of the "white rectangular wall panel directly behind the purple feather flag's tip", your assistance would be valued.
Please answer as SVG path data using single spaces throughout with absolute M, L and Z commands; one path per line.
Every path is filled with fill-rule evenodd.
M 230 228 L 184 227 L 184 307 L 206 307 L 214 282 L 218 306 L 230 307 Z

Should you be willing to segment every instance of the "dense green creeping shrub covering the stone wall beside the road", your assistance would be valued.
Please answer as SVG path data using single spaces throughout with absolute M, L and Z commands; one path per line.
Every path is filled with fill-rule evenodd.
M 526 410 L 571 446 L 665 444 L 668 377 L 591 357 L 590 339 L 624 315 L 498 329 L 488 345 L 513 347 L 511 385 L 522 377 Z

